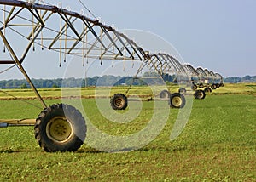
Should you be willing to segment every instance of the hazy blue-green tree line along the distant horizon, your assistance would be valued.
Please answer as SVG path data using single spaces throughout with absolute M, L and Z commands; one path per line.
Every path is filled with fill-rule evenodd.
M 88 78 L 57 78 L 57 79 L 32 79 L 36 88 L 77 88 L 77 87 L 101 87 L 101 86 L 119 86 L 119 85 L 148 85 L 159 84 L 159 77 L 154 72 L 145 72 L 144 79 L 136 79 L 134 77 L 120 77 L 120 76 L 102 76 L 102 77 L 88 77 Z M 163 75 L 165 82 L 175 82 L 174 75 Z M 226 77 L 224 82 L 256 82 L 256 76 L 246 77 Z M 18 80 L 2 80 L 0 81 L 0 88 L 30 88 L 25 79 Z

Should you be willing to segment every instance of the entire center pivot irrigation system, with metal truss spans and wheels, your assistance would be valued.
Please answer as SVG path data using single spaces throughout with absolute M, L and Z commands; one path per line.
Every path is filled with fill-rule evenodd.
M 43 107 L 37 119 L 0 119 L 0 127 L 34 125 L 35 138 L 44 151 L 77 151 L 86 137 L 86 122 L 80 111 L 72 105 L 48 106 L 44 103 L 23 67 L 26 55 L 30 50 L 35 51 L 36 46 L 42 50 L 45 48 L 57 52 L 60 55 L 60 66 L 61 60 L 65 62 L 67 55 L 80 57 L 83 65 L 88 58 L 100 60 L 101 64 L 102 60 L 137 60 L 141 63 L 137 74 L 147 67 L 161 77 L 173 73 L 179 77 L 186 77 L 186 82 L 192 83 L 190 86 L 192 85 L 197 99 L 203 99 L 204 91 L 209 92 L 211 88 L 223 86 L 221 75 L 207 69 L 195 69 L 192 65 L 183 65 L 170 54 L 149 53 L 112 26 L 84 16 L 82 11 L 76 13 L 70 9 L 62 9 L 61 3 L 53 6 L 40 1 L 29 3 L 0 0 L 0 10 L 2 55 L 7 57 L 0 57 L 0 64 L 10 65 L 1 71 L 1 74 L 17 67 L 26 77 Z M 20 37 L 26 43 L 24 48 L 17 43 Z M 21 53 L 15 51 L 20 49 L 23 49 Z M 185 92 L 186 88 L 180 88 L 179 93 L 174 94 L 163 90 L 160 98 L 167 96 L 170 106 L 182 108 L 185 105 Z M 114 110 L 125 110 L 128 105 L 127 95 L 114 94 L 110 103 Z

